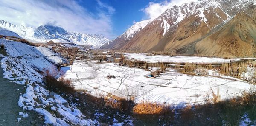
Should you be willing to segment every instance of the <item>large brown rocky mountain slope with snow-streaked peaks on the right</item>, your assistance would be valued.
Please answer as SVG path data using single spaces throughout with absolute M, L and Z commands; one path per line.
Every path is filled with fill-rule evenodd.
M 173 6 L 117 50 L 254 57 L 256 1 L 198 0 Z M 117 38 L 118 39 L 118 38 Z M 116 43 L 123 43 L 116 40 Z

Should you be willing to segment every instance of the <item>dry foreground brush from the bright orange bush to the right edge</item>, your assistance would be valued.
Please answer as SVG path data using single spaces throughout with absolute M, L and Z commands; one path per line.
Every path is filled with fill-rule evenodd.
M 172 110 L 160 104 L 137 104 L 133 108 L 134 117 L 146 125 L 179 126 L 238 126 L 245 112 L 251 120 L 255 120 L 256 88 L 243 92 L 242 96 L 224 101 L 220 101 L 218 97 L 216 92 L 213 99 L 206 98 L 205 104 L 187 105 L 180 110 Z

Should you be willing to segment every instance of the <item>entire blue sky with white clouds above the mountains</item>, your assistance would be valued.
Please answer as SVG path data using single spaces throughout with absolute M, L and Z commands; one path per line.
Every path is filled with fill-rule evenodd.
M 195 0 L 1 0 L 0 20 L 33 28 L 55 25 L 115 39 L 133 23 L 190 1 Z

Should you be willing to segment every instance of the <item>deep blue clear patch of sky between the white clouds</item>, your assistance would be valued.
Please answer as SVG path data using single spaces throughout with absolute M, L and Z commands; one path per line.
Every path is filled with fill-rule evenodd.
M 134 22 L 149 19 L 142 9 L 145 8 L 149 2 L 153 1 L 155 0 L 101 0 L 102 3 L 108 4 L 115 9 L 111 19 L 113 32 L 116 35 L 125 32 Z M 160 2 L 160 0 L 158 2 Z M 86 0 L 83 6 L 92 13 L 96 13 L 97 10 L 95 6 L 98 5 L 96 0 Z

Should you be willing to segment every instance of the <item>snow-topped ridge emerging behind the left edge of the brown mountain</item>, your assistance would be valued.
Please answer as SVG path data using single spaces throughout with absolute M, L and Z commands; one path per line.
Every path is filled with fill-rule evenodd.
M 113 48 L 126 44 L 127 41 L 133 38 L 137 33 L 140 32 L 141 29 L 145 28 L 145 26 L 148 25 L 148 23 L 150 23 L 151 21 L 152 20 L 143 20 L 140 22 L 136 22 L 134 25 L 128 28 L 128 30 L 126 30 L 121 36 L 118 36 L 113 41 L 106 43 L 101 48 Z

